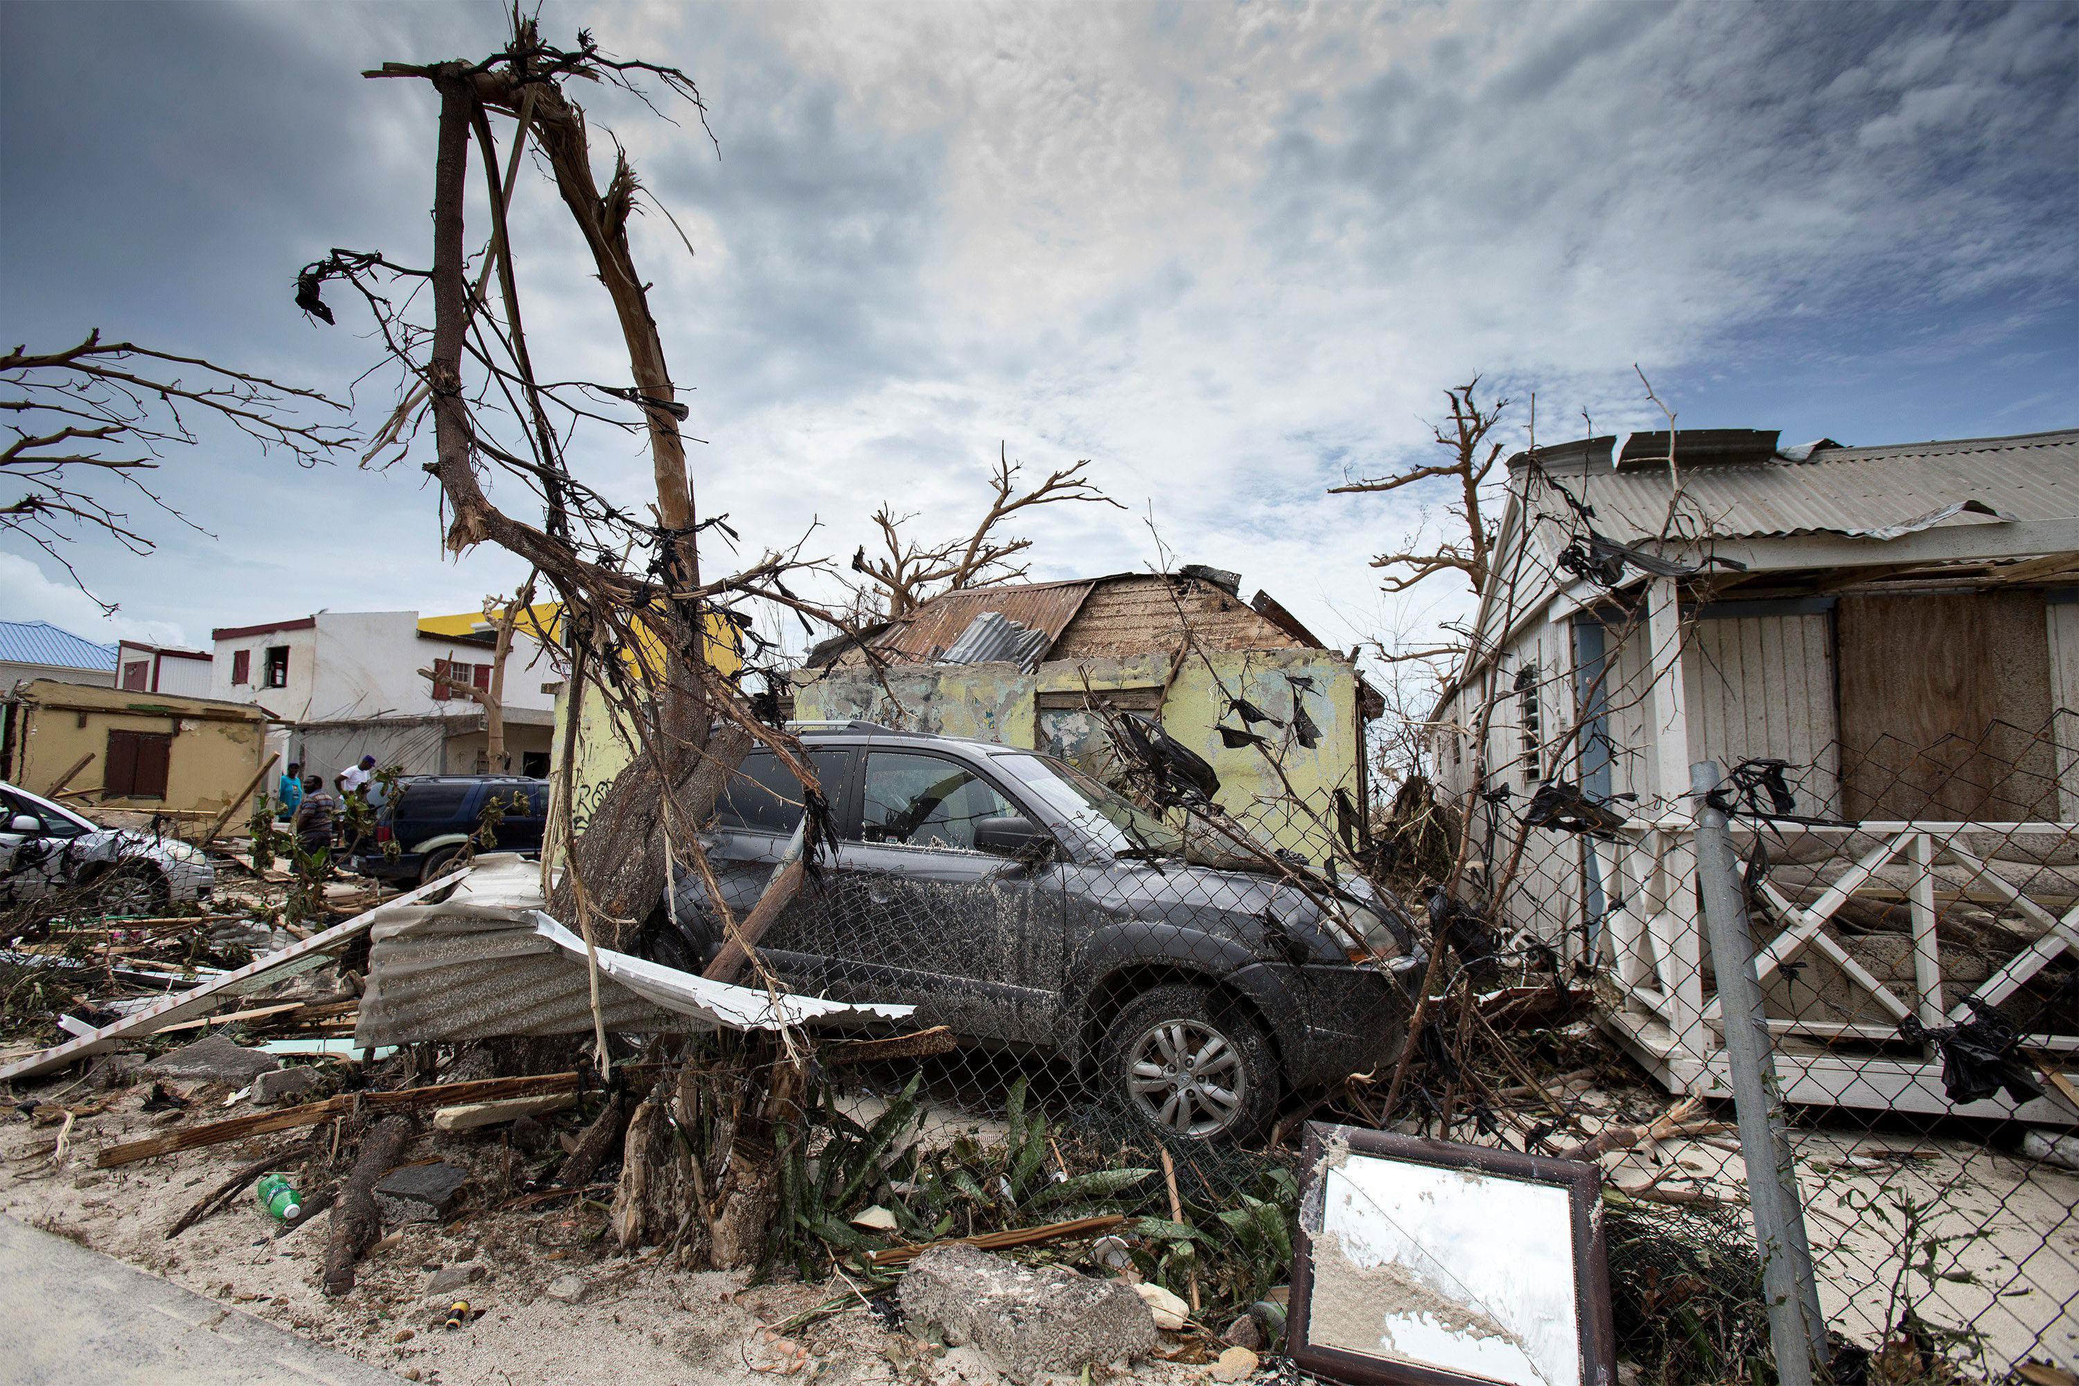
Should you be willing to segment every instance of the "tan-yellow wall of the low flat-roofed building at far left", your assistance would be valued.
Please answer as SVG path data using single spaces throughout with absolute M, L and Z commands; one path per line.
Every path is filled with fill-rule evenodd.
M 79 711 L 94 709 L 94 711 Z M 164 709 L 164 711 L 141 711 Z M 15 719 L 15 783 L 46 794 L 52 781 L 79 756 L 94 752 L 87 769 L 73 775 L 69 790 L 102 783 L 108 731 L 173 731 L 166 754 L 166 798 L 110 798 L 98 792 L 71 800 L 89 812 L 108 808 L 220 812 L 260 769 L 266 721 L 258 709 L 210 698 L 173 698 L 121 688 L 87 688 L 37 679 L 23 690 L 23 702 L 8 709 Z M 260 785 L 262 792 L 272 785 Z

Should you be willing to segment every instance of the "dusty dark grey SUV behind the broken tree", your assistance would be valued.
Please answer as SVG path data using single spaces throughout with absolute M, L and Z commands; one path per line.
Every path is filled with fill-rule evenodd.
M 1094 1070 L 1198 1141 L 1254 1137 L 1287 1091 L 1405 1039 L 1422 960 L 1362 885 L 1195 864 L 1173 827 L 1031 750 L 871 723 L 802 744 L 838 850 L 759 943 L 792 989 L 913 1002 L 967 1043 Z M 798 800 L 757 750 L 717 802 L 703 848 L 734 916 L 784 858 Z M 713 958 L 699 877 L 649 939 L 659 962 Z

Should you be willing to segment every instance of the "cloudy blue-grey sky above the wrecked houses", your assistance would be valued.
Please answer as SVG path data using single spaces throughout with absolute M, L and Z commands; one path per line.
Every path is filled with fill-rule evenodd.
M 842 561 L 879 503 L 973 524 L 1004 447 L 1089 459 L 1123 509 L 1015 528 L 1035 578 L 1210 563 L 1337 646 L 1420 638 L 1451 582 L 1387 596 L 1368 557 L 1443 492 L 1331 497 L 1437 451 L 1443 391 L 1534 397 L 1541 441 L 1661 426 L 1875 445 L 2079 426 L 2079 6 L 568 4 L 682 66 L 715 143 L 576 91 L 655 204 L 634 249 L 694 488 L 742 559 Z M 435 104 L 385 60 L 482 56 L 497 4 L 0 4 L 0 335 L 87 328 L 320 389 L 372 428 L 391 382 L 328 247 L 430 258 Z M 501 139 L 509 123 L 499 123 Z M 717 154 L 719 145 L 719 154 Z M 605 156 L 603 156 L 605 158 Z M 669 220 L 657 212 L 669 210 Z M 676 229 L 674 222 L 676 220 Z M 472 208 L 470 239 L 484 233 Z M 682 239 L 684 235 L 684 239 Z M 516 262 L 536 368 L 626 382 L 549 181 Z M 690 241 L 690 254 L 688 254 Z M 516 559 L 441 553 L 430 436 L 304 470 L 206 432 L 81 536 L 79 594 L 0 536 L 0 619 L 208 642 L 316 609 L 474 609 Z M 640 503 L 647 455 L 574 470 Z M 516 507 L 520 497 L 505 497 Z M 711 571 L 730 555 L 711 553 Z

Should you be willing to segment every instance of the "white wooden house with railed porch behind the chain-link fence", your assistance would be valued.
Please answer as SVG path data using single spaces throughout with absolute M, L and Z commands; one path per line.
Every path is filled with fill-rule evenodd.
M 1603 1022 L 1669 1089 L 1723 1074 L 1684 798 L 1703 758 L 1786 761 L 1794 812 L 1842 823 L 1767 829 L 1757 966 L 1794 1101 L 1952 1110 L 1898 1022 L 1967 997 L 2027 999 L 2031 1043 L 2079 1049 L 2079 430 L 1518 455 L 1472 650 L 1437 779 L 1507 790 L 1482 800 L 1482 879 L 1509 881 L 1518 937 L 1599 964 Z M 1530 829 L 1511 873 L 1555 781 L 1626 827 Z

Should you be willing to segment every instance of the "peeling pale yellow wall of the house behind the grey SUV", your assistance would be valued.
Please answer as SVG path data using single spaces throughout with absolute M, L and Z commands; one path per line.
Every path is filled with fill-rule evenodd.
M 890 704 L 890 690 L 900 707 Z M 1168 655 L 1062 659 L 1040 665 L 1037 673 L 1015 665 L 909 665 L 888 669 L 886 688 L 865 669 L 825 669 L 798 684 L 794 715 L 1035 746 L 1102 777 L 1110 746 L 1104 723 L 1083 707 L 1085 690 L 1112 692 L 1131 711 L 1160 709 L 1164 729 L 1220 775 L 1220 806 L 1301 856 L 1326 854 L 1337 788 L 1364 802 L 1358 671 L 1331 650 L 1210 650 L 1185 659 L 1175 679 Z M 1243 725 L 1229 713 L 1231 698 L 1245 698 L 1285 723 L 1249 727 L 1270 740 L 1268 748 L 1229 750 L 1220 742 L 1222 723 Z M 1295 700 L 1320 734 L 1312 748 L 1291 729 Z M 1301 806 L 1287 800 L 1287 785 Z

